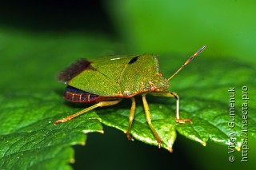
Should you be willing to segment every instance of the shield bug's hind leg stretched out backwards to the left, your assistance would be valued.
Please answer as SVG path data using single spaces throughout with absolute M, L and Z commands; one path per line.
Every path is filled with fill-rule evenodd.
M 110 106 L 110 105 L 117 105 L 120 101 L 122 101 L 122 98 L 116 100 L 116 101 L 100 101 L 98 102 L 97 104 L 95 105 L 92 105 L 86 109 L 82 109 L 81 111 L 79 111 L 78 113 L 74 113 L 68 117 L 65 117 L 63 119 L 60 119 L 58 121 L 55 121 L 54 122 L 54 125 L 57 125 L 58 123 L 63 123 L 65 121 L 70 121 L 71 119 L 73 119 L 74 117 L 78 117 L 79 115 L 83 114 L 83 113 L 86 113 L 88 111 L 90 111 L 91 109 L 95 109 L 95 108 L 98 108 L 98 107 L 104 107 L 104 106 Z

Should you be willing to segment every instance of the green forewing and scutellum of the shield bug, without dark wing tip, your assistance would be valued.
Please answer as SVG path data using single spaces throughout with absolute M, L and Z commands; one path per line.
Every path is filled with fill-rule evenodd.
M 119 79 L 130 58 L 111 56 L 92 61 L 68 85 L 103 97 L 122 97 Z

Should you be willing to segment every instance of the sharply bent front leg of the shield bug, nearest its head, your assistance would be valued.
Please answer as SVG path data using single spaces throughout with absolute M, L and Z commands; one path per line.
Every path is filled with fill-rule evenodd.
M 180 119 L 179 118 L 179 98 L 178 94 L 173 93 L 173 92 L 153 92 L 149 93 L 152 96 L 158 96 L 158 97 L 174 97 L 176 99 L 176 119 L 175 121 L 178 123 L 185 123 L 185 122 L 190 122 L 192 121 L 190 119 Z

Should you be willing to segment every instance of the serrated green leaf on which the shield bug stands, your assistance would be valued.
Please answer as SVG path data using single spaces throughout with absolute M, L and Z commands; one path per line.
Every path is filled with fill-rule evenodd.
M 87 107 L 64 102 L 62 92 L 65 85 L 55 81 L 54 75 L 75 61 L 81 51 L 90 49 L 76 49 L 78 45 L 74 45 L 76 48 L 66 50 L 69 42 L 74 42 L 69 38 L 34 39 L 13 32 L 11 35 L 15 36 L 2 36 L 2 42 L 9 40 L 13 43 L 11 46 L 8 43 L 1 44 L 4 49 L 2 55 L 6 57 L 1 57 L 0 67 L 0 168 L 70 169 L 67 163 L 74 162 L 74 151 L 70 146 L 85 144 L 85 133 L 102 132 L 102 124 L 126 131 L 131 104 L 129 99 L 124 99 L 119 105 L 94 109 L 72 121 L 54 126 L 54 121 Z M 83 38 L 74 39 L 78 40 L 78 44 L 83 43 Z M 91 39 L 89 42 L 95 44 L 99 51 L 109 49 L 111 44 Z M 51 48 L 55 43 L 60 45 L 60 49 Z M 17 51 L 13 50 L 15 47 Z M 65 58 L 60 62 L 59 57 L 53 56 Z M 149 96 L 152 124 L 162 138 L 162 147 L 170 151 L 178 133 L 205 145 L 208 140 L 229 144 L 230 131 L 236 133 L 236 148 L 239 149 L 242 144 L 242 104 L 246 102 L 242 100 L 243 86 L 248 87 L 250 97 L 248 136 L 256 139 L 255 106 L 252 105 L 256 97 L 253 90 L 256 85 L 254 65 L 225 59 L 216 61 L 204 58 L 203 53 L 200 56 L 174 77 L 170 86 L 170 91 L 178 93 L 180 97 L 181 117 L 190 118 L 193 124 L 178 124 L 174 121 L 174 98 Z M 160 56 L 159 60 L 160 69 L 166 77 L 182 65 L 175 55 Z M 235 87 L 236 92 L 234 128 L 228 126 L 228 90 L 232 87 Z M 141 100 L 141 97 L 136 97 L 137 108 L 131 134 L 135 140 L 157 145 L 147 125 Z M 125 137 L 125 134 L 120 137 Z

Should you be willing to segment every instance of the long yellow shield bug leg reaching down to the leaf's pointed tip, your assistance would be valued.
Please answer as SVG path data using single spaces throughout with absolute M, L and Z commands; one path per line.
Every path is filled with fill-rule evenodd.
M 158 132 L 154 129 L 154 126 L 151 123 L 150 107 L 146 101 L 146 94 L 142 94 L 142 102 L 143 102 L 144 110 L 146 113 L 146 121 L 147 121 L 148 125 L 150 126 L 150 129 L 154 133 L 156 140 L 158 141 L 158 148 L 161 148 L 162 140 L 161 140 L 160 136 L 158 135 Z

